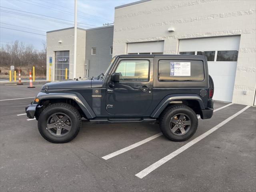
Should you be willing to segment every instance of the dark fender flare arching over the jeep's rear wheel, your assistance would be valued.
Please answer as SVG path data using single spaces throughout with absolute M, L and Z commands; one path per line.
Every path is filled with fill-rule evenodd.
M 158 104 L 158 106 L 156 106 L 156 108 L 154 109 L 150 116 L 153 118 L 158 118 L 158 116 L 162 113 L 162 111 L 171 101 L 177 100 L 196 100 L 199 103 L 200 109 L 205 109 L 202 99 L 197 94 L 170 94 L 162 99 L 162 101 Z

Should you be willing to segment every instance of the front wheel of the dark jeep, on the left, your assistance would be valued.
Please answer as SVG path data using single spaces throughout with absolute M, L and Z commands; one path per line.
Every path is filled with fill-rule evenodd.
M 56 124 L 56 128 L 47 128 L 51 125 L 49 121 L 53 121 L 55 124 L 56 121 L 52 117 L 55 116 L 55 114 L 58 118 L 64 118 L 66 115 L 68 120 L 62 124 Z M 59 121 L 60 120 L 62 119 L 59 119 Z M 58 128 L 59 125 L 60 127 Z M 80 127 L 80 113 L 76 108 L 66 103 L 54 103 L 47 106 L 38 118 L 38 130 L 40 134 L 43 138 L 52 143 L 66 143 L 73 140 L 77 136 Z M 69 130 L 66 130 L 65 128 L 68 128 Z M 60 132 L 58 132 L 59 135 L 57 134 L 57 129 L 60 130 Z M 55 132 L 56 134 L 54 134 Z

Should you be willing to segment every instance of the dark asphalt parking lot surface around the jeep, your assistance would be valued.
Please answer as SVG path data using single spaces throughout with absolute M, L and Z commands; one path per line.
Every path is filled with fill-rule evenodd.
M 24 115 L 42 87 L 34 85 L 0 84 L 2 192 L 256 189 L 255 107 L 215 102 L 213 117 L 199 119 L 186 142 L 167 140 L 157 124 L 84 121 L 73 141 L 52 144 Z

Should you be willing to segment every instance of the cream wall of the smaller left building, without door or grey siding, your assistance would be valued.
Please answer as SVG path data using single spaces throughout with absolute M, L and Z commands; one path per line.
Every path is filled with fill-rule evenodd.
M 58 41 L 62 43 L 58 43 Z M 84 77 L 84 65 L 85 65 L 85 40 L 86 31 L 77 29 L 77 45 L 76 45 L 76 77 Z M 74 28 L 56 30 L 53 32 L 47 32 L 46 35 L 47 44 L 47 56 L 46 66 L 47 73 L 46 78 L 49 80 L 49 68 L 50 57 L 52 57 L 51 66 L 51 81 L 54 81 L 55 77 L 55 51 L 69 51 L 69 77 L 73 78 L 74 73 Z

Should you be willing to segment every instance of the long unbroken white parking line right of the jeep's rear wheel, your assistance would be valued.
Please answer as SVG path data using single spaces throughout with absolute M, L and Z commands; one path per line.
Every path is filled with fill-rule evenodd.
M 178 154 L 182 153 L 184 150 L 190 148 L 191 146 L 193 146 L 194 144 L 196 144 L 197 142 L 199 142 L 200 140 L 202 140 L 203 138 L 205 138 L 206 136 L 208 136 L 209 134 L 211 134 L 212 132 L 216 131 L 218 128 L 220 128 L 221 126 L 223 126 L 224 124 L 226 124 L 227 122 L 229 122 L 230 120 L 232 120 L 233 118 L 235 118 L 236 116 L 238 116 L 239 114 L 241 114 L 242 112 L 244 112 L 246 109 L 248 109 L 250 106 L 246 106 L 245 108 L 243 108 L 242 110 L 238 111 L 236 114 L 230 116 L 229 118 L 227 118 L 226 120 L 222 121 L 221 123 L 219 123 L 218 125 L 216 125 L 215 127 L 211 128 L 210 130 L 208 130 L 207 132 L 205 132 L 204 134 L 198 136 L 197 138 L 193 139 L 192 141 L 188 142 L 186 145 L 182 146 L 181 148 L 179 148 L 178 150 L 172 152 L 171 154 L 165 156 L 164 158 L 160 159 L 159 161 L 155 162 L 154 164 L 150 165 L 149 167 L 147 167 L 146 169 L 142 170 L 141 172 L 137 173 L 135 176 L 137 176 L 138 178 L 144 178 L 146 175 L 148 175 L 150 172 L 154 171 L 156 168 L 160 167 L 162 164 L 168 162 L 169 160 L 171 160 L 172 158 L 174 158 L 175 156 L 177 156 Z

